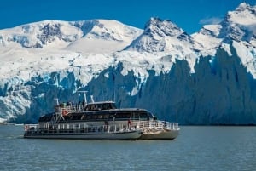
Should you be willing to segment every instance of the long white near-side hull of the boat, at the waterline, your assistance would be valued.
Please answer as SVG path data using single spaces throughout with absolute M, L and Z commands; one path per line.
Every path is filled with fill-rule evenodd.
M 79 140 L 137 140 L 141 130 L 117 133 L 74 133 L 74 134 L 24 134 L 24 138 L 31 139 L 79 139 Z

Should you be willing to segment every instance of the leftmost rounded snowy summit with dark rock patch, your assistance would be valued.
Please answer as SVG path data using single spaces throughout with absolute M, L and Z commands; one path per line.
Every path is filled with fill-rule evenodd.
M 62 48 L 82 36 L 71 23 L 45 20 L 0 31 L 0 43 L 3 47 Z

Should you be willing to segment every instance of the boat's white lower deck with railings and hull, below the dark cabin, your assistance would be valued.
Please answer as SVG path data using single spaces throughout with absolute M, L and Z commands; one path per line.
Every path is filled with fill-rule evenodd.
M 179 127 L 177 123 L 163 121 L 126 121 L 108 123 L 40 123 L 25 125 L 26 138 L 74 138 L 74 139 L 107 139 L 118 134 L 126 134 L 131 131 L 141 130 L 143 139 L 168 139 L 177 137 Z M 103 138 L 102 138 L 103 137 Z M 114 136 L 113 136 L 114 138 Z M 111 139 L 113 139 L 111 138 Z M 126 137 L 127 139 L 134 139 Z M 139 138 L 139 137 L 137 137 Z M 124 137 L 122 137 L 124 139 Z

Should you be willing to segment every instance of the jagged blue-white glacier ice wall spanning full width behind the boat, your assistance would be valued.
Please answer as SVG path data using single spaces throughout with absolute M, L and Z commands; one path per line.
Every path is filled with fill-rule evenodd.
M 0 117 L 37 123 L 38 117 L 54 111 L 55 98 L 77 103 L 83 95 L 76 92 L 87 90 L 94 100 L 145 108 L 162 120 L 181 124 L 256 124 L 256 80 L 232 45 L 230 52 L 218 48 L 214 56 L 198 58 L 193 73 L 187 60 L 175 60 L 168 72 L 148 70 L 147 79 L 134 71 L 123 75 L 124 67 L 122 62 L 109 66 L 86 85 L 72 70 L 45 73 L 28 82 L 17 77 L 2 80 Z

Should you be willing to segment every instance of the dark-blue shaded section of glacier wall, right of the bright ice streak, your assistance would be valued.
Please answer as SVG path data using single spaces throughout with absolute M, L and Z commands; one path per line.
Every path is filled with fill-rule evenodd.
M 255 124 L 256 82 L 231 51 L 201 57 L 195 73 L 177 60 L 169 73 L 151 74 L 136 105 L 182 124 Z

